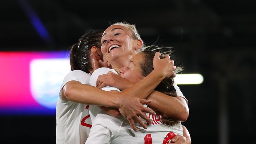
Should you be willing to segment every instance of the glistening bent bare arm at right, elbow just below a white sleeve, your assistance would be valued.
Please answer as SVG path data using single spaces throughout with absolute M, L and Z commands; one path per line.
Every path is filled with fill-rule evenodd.
M 147 99 L 152 100 L 152 102 L 148 104 L 152 109 L 161 112 L 161 114 L 167 118 L 186 121 L 189 116 L 189 108 L 183 97 L 172 97 L 160 93 L 159 91 L 153 91 Z

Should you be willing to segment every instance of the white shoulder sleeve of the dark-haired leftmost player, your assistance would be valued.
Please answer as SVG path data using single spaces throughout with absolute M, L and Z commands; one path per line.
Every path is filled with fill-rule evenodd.
M 59 96 L 62 99 L 62 88 L 66 85 L 69 81 L 79 81 L 82 84 L 89 84 L 90 81 L 90 74 L 83 72 L 81 70 L 74 70 L 66 74 L 66 76 L 63 79 L 61 90 L 59 91 Z

